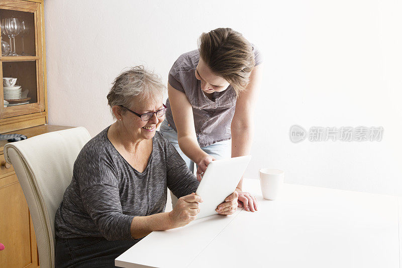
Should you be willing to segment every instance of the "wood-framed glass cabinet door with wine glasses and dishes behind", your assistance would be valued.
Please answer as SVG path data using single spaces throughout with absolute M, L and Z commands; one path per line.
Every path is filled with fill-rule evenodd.
M 39 3 L 0 4 L 0 118 L 44 111 L 41 12 Z

